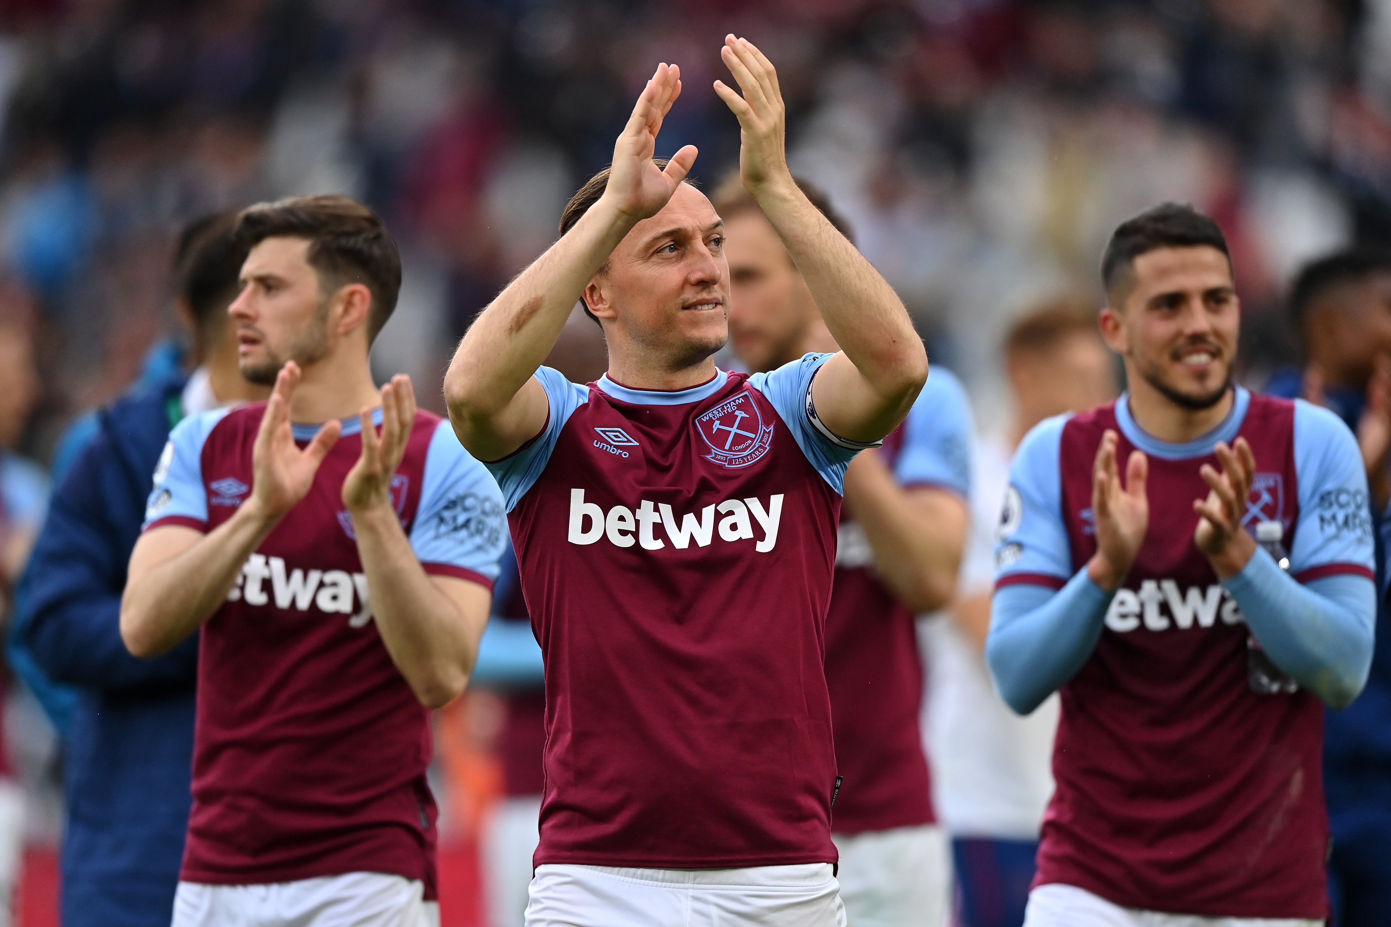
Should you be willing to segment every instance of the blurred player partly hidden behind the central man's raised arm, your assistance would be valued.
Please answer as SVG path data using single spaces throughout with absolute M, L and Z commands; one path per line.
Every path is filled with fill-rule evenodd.
M 842 235 L 819 190 L 807 199 Z M 836 350 L 805 279 L 739 177 L 715 192 L 729 261 L 729 334 L 750 370 Z M 826 687 L 843 778 L 832 809 L 840 898 L 857 927 L 946 923 L 951 866 L 936 824 L 918 712 L 917 614 L 951 599 L 967 532 L 971 407 L 932 368 L 907 420 L 846 470 L 826 613 Z

